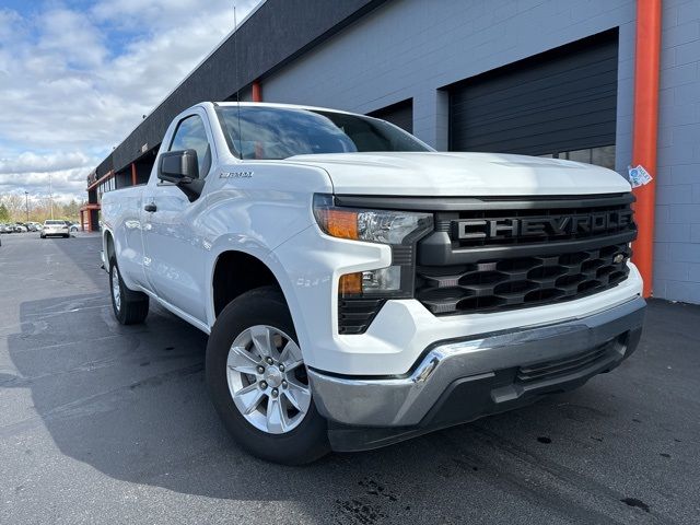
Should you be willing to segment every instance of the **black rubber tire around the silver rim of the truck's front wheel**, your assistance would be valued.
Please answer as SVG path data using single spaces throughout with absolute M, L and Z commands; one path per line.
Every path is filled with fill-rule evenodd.
M 313 397 L 304 419 L 283 434 L 258 430 L 233 401 L 226 373 L 229 350 L 240 334 L 255 325 L 277 328 L 299 345 L 281 292 L 265 288 L 230 303 L 219 315 L 207 345 L 206 376 L 214 408 L 235 440 L 254 455 L 290 465 L 312 462 L 328 452 L 326 420 L 316 410 Z

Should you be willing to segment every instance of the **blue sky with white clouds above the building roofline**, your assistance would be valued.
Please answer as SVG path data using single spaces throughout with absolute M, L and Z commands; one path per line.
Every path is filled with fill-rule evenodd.
M 258 0 L 0 0 L 0 197 L 88 174 Z

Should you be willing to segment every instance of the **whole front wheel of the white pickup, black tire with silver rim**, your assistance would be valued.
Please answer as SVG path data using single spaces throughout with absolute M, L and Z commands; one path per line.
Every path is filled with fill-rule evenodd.
M 265 330 L 272 335 L 267 340 L 273 341 L 268 355 L 275 359 L 269 366 L 260 358 L 265 352 L 259 351 L 260 347 L 254 340 L 244 346 L 248 336 L 256 335 L 264 340 L 260 335 Z M 236 348 L 243 350 L 245 358 L 233 352 L 235 341 L 240 341 L 241 346 L 236 345 Z M 294 358 L 285 359 L 284 351 L 280 352 L 282 348 L 284 351 L 293 349 L 293 352 L 288 351 L 287 358 L 292 353 Z M 242 373 L 230 368 L 230 363 L 241 363 L 240 369 L 249 368 L 252 373 Z M 289 370 L 277 368 L 282 363 L 288 363 Z M 280 372 L 281 375 L 278 374 Z M 330 452 L 327 423 L 314 405 L 292 317 L 279 289 L 264 287 L 252 290 L 223 308 L 207 345 L 206 377 L 209 395 L 226 430 L 249 454 L 283 465 L 303 465 Z M 234 384 L 237 381 L 245 384 Z M 262 390 L 261 384 L 267 389 Z M 249 404 L 255 406 L 248 416 L 244 416 L 244 409 L 236 406 L 236 402 L 244 402 L 243 397 L 238 395 L 234 401 L 233 392 L 237 387 L 238 394 L 247 388 L 246 397 L 259 398 Z M 303 411 L 292 406 L 294 398 Z M 270 407 L 277 407 L 277 410 L 268 412 Z M 271 419 L 276 419 L 275 413 L 279 416 L 276 421 L 280 422 L 278 427 L 273 421 L 275 424 L 270 424 Z

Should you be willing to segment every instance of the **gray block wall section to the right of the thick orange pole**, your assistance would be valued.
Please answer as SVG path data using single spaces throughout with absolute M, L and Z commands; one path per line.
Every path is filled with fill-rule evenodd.
M 654 295 L 700 303 L 700 1 L 664 8 Z

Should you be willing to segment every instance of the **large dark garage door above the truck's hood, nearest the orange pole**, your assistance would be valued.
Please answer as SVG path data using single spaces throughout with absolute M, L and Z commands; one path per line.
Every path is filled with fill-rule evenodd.
M 617 57 L 612 30 L 448 86 L 450 149 L 614 164 Z

